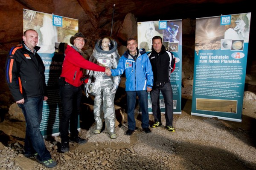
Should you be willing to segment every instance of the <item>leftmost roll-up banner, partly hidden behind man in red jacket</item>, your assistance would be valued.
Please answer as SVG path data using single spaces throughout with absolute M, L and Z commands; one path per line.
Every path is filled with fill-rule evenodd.
M 38 32 L 38 54 L 45 66 L 48 100 L 44 101 L 41 133 L 59 135 L 62 103 L 59 96 L 58 77 L 61 75 L 65 44 L 70 45 L 70 37 L 78 32 L 78 20 L 23 9 L 23 32 L 34 29 Z M 80 125 L 79 125 L 80 130 Z

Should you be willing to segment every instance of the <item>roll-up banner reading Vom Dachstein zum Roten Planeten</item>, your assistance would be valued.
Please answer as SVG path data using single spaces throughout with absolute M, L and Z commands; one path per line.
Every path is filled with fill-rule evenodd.
M 250 16 L 196 19 L 191 115 L 241 122 Z

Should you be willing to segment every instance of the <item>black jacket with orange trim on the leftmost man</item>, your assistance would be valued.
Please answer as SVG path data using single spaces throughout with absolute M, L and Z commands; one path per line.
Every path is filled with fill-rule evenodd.
M 36 51 L 39 49 L 35 46 Z M 44 63 L 37 53 L 24 47 L 24 42 L 9 51 L 5 68 L 6 81 L 15 101 L 47 96 Z

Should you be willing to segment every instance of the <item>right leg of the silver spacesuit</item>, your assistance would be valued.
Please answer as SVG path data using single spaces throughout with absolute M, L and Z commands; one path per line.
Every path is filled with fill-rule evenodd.
M 115 134 L 115 122 L 116 115 L 114 109 L 114 98 L 115 95 L 111 94 L 111 87 L 113 85 L 113 81 L 105 81 L 102 86 L 105 86 L 103 91 L 103 111 L 105 118 L 105 125 L 110 135 Z

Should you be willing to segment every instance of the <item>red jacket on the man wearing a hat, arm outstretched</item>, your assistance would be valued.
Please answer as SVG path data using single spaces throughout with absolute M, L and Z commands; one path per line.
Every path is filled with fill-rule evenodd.
M 67 46 L 65 59 L 62 65 L 61 77 L 69 84 L 81 86 L 80 78 L 83 76 L 83 69 L 90 69 L 98 72 L 105 72 L 105 67 L 85 60 L 82 55 L 71 46 Z

